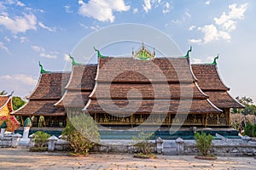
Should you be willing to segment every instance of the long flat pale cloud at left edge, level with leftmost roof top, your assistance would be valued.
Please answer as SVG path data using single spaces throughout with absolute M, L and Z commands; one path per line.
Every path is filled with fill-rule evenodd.
M 35 86 L 38 82 L 37 79 L 35 79 L 32 76 L 28 76 L 28 75 L 23 75 L 23 74 L 19 74 L 19 75 L 4 75 L 0 77 L 1 80 L 3 81 L 10 81 L 10 82 L 16 82 L 16 84 L 19 82 L 22 82 L 23 84 L 29 85 L 29 86 Z

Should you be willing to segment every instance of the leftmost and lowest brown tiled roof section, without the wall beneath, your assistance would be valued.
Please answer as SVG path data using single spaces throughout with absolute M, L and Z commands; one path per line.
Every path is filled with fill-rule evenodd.
M 29 102 L 13 115 L 20 116 L 65 116 L 64 108 L 54 107 L 61 99 L 64 87 L 69 80 L 70 73 L 49 72 L 40 75 L 38 85 L 30 96 Z

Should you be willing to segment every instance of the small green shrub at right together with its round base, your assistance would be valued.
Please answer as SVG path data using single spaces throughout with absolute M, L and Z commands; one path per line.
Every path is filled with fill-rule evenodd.
M 200 154 L 195 156 L 197 159 L 216 160 L 217 157 L 210 153 L 212 148 L 212 135 L 207 133 L 195 133 L 195 145 Z

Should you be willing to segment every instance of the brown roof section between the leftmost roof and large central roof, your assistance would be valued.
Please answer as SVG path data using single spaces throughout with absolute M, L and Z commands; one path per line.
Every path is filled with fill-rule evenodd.
M 66 92 L 55 106 L 83 108 L 95 85 L 96 68 L 97 65 L 73 65 Z

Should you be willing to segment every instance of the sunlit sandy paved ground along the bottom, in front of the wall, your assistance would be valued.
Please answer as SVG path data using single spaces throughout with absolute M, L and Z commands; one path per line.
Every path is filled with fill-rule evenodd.
M 218 157 L 216 161 L 197 160 L 194 156 L 157 156 L 154 160 L 133 158 L 130 154 L 35 153 L 21 149 L 0 149 L 0 169 L 256 169 L 253 157 Z

